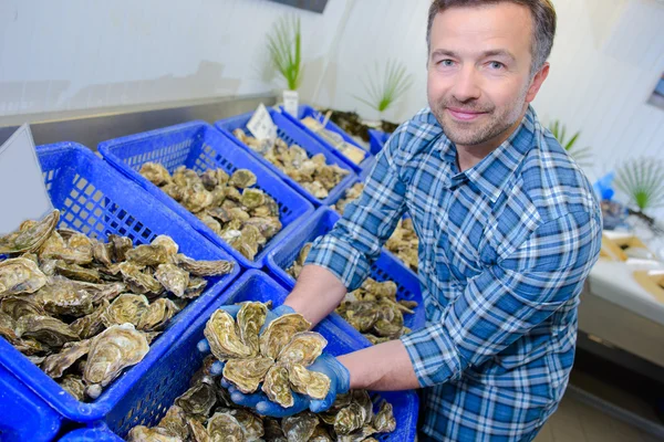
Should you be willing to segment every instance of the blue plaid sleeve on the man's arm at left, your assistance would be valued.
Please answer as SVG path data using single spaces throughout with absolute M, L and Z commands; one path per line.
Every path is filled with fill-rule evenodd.
M 332 272 L 349 291 L 366 280 L 371 264 L 405 211 L 406 187 L 392 155 L 400 143 L 398 134 L 376 156 L 360 198 L 346 206 L 343 218 L 329 234 L 314 241 L 307 259 L 307 264 Z

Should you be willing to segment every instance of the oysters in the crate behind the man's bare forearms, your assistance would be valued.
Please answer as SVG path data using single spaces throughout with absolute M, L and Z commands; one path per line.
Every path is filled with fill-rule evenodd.
M 287 270 L 293 278 L 302 272 L 310 250 L 311 243 L 304 244 Z M 369 277 L 360 288 L 346 294 L 336 313 L 374 345 L 398 339 L 409 332 L 404 325 L 404 314 L 414 314 L 417 303 L 397 299 L 396 292 L 393 281 L 376 282 Z

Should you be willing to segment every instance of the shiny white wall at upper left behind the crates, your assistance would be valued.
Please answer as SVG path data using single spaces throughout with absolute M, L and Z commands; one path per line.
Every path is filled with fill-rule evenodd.
M 313 93 L 344 12 L 266 0 L 0 0 L 0 116 L 269 92 L 264 34 L 302 19 Z

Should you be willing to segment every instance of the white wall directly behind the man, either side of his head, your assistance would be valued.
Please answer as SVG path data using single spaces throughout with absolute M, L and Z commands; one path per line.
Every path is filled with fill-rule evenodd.
M 535 107 L 547 124 L 560 119 L 581 130 L 594 150 L 591 178 L 629 156 L 664 158 L 664 110 L 646 104 L 664 72 L 664 3 L 656 0 L 553 0 L 559 15 L 551 74 Z M 429 0 L 355 1 L 338 50 L 331 55 L 321 105 L 374 110 L 353 95 L 363 92 L 362 70 L 395 57 L 416 78 L 406 98 L 385 117 L 403 120 L 426 105 L 426 12 Z M 360 72 L 359 72 L 360 71 Z

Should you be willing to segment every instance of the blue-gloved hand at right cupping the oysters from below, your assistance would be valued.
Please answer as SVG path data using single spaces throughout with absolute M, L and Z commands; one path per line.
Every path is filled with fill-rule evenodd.
M 312 371 L 319 371 L 330 378 L 330 391 L 325 399 L 311 399 L 308 396 L 293 392 L 295 399 L 293 407 L 283 408 L 268 399 L 263 392 L 252 394 L 243 394 L 235 387 L 230 387 L 230 399 L 239 406 L 256 408 L 263 415 L 272 418 L 283 418 L 287 415 L 297 414 L 305 409 L 310 409 L 314 413 L 320 413 L 328 410 L 339 394 L 347 392 L 351 388 L 351 373 L 334 356 L 322 354 L 319 358 L 308 367 Z

